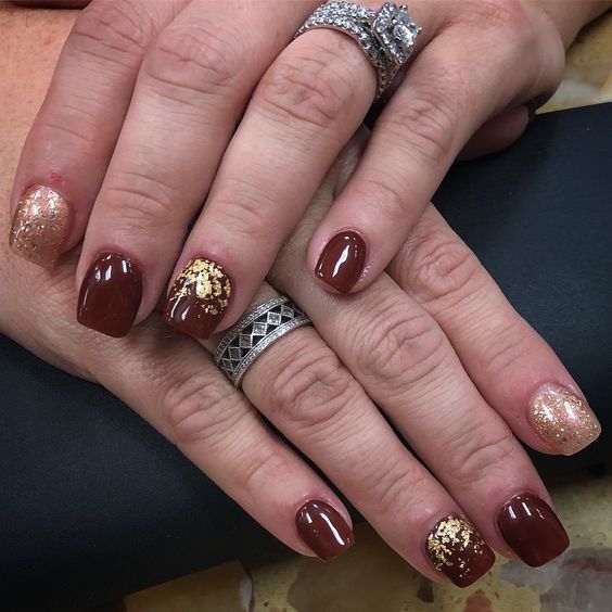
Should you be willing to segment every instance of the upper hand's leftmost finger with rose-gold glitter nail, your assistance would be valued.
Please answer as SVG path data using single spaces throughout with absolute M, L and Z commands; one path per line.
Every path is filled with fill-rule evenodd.
M 81 240 L 145 49 L 181 2 L 95 0 L 78 16 L 17 168 L 17 255 L 51 267 Z

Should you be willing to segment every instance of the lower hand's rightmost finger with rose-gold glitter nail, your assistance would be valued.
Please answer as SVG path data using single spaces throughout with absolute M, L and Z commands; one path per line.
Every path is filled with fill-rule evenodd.
M 573 455 L 599 436 L 576 382 L 433 206 L 390 273 L 438 321 L 483 397 L 525 444 Z

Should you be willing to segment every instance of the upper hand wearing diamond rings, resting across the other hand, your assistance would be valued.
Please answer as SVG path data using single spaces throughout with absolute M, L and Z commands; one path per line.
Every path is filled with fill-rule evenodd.
M 346 35 L 292 41 L 317 4 L 93 0 L 77 18 L 23 152 L 12 240 L 50 265 L 85 234 L 84 324 L 125 335 L 173 272 L 166 319 L 178 329 L 205 339 L 244 311 L 375 92 Z M 342 293 L 369 286 L 457 154 L 517 138 L 525 102 L 556 88 L 563 46 L 604 9 L 415 0 L 416 59 L 314 232 L 311 275 Z M 109 252 L 127 272 L 102 295 L 95 277 Z M 195 257 L 222 277 L 205 313 L 180 299 L 179 272 Z

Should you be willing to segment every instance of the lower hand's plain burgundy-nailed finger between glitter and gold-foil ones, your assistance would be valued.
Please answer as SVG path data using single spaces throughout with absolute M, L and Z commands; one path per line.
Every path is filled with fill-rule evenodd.
M 313 213 L 307 226 L 316 220 Z M 432 317 L 386 276 L 358 296 L 326 296 L 295 264 L 305 248 L 302 232 L 285 246 L 270 281 L 309 314 L 321 337 L 485 539 L 533 565 L 564 550 L 566 534 L 528 457 Z M 524 514 L 509 519 L 523 501 L 541 521 Z

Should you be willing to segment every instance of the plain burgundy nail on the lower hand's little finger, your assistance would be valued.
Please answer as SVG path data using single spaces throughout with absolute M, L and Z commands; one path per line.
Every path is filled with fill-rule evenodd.
M 323 561 L 331 561 L 350 548 L 355 536 L 340 513 L 324 501 L 307 501 L 295 515 L 297 533 Z

